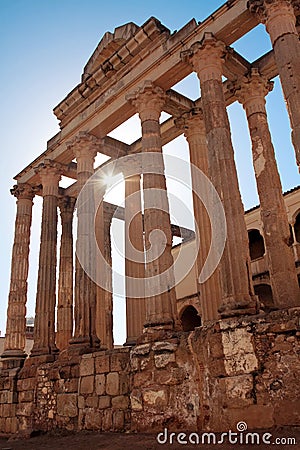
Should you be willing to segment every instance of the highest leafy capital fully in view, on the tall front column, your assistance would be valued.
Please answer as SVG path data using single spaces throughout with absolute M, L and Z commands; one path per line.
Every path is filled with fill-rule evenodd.
M 181 59 L 192 65 L 200 81 L 206 81 L 222 77 L 225 54 L 224 42 L 206 32 L 201 41 L 195 42 L 189 50 L 181 53 Z

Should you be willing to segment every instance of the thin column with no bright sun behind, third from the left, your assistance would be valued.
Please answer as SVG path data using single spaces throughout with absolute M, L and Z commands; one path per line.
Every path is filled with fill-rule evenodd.
M 75 198 L 61 197 L 60 262 L 57 302 L 56 345 L 60 351 L 69 346 L 73 332 L 73 213 Z

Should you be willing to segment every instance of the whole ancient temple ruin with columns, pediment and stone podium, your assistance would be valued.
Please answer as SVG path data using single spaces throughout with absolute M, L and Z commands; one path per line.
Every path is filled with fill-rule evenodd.
M 300 300 L 293 253 L 300 242 L 299 220 L 293 244 L 265 109 L 271 80 L 279 75 L 300 164 L 299 13 L 298 0 L 231 0 L 205 21 L 191 20 L 174 33 L 150 18 L 142 26 L 128 23 L 104 35 L 81 83 L 54 109 L 60 132 L 16 176 L 12 189 L 17 215 L 1 357 L 2 433 L 221 431 L 235 429 L 241 420 L 252 429 L 299 425 Z M 250 63 L 230 46 L 259 23 L 265 24 L 273 49 Z M 172 90 L 192 72 L 201 86 L 196 101 Z M 254 267 L 250 260 L 234 163 L 226 107 L 235 101 L 245 109 L 252 142 L 267 302 L 254 280 L 259 261 Z M 163 111 L 170 118 L 160 123 Z M 136 113 L 141 139 L 128 145 L 108 136 Z M 192 171 L 196 238 L 170 223 L 162 146 L 181 134 L 191 164 L 210 180 L 200 183 L 204 197 L 219 205 L 219 216 L 209 217 L 195 194 L 199 180 Z M 89 180 L 97 176 L 97 154 L 107 155 L 123 172 L 124 208 L 99 202 L 96 193 L 94 198 L 96 183 Z M 73 184 L 62 188 L 61 176 Z M 34 344 L 27 357 L 35 195 L 42 196 L 43 211 Z M 295 219 L 299 209 L 294 212 Z M 126 229 L 127 340 L 118 347 L 112 337 L 109 231 L 116 216 Z M 218 235 L 213 222 L 225 227 Z M 222 233 L 220 262 L 206 266 L 208 276 L 201 281 L 211 242 L 219 242 Z M 183 242 L 172 249 L 174 235 Z M 177 283 L 174 262 L 184 248 L 185 257 L 192 253 L 195 242 L 195 263 Z M 212 255 L 212 265 L 217 256 Z M 193 288 L 188 292 L 183 286 Z M 180 289 L 185 296 L 178 296 Z

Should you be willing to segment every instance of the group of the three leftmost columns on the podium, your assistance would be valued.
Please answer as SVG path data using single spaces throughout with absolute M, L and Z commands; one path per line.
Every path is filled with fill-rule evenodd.
M 60 165 L 45 161 L 39 166 L 43 182 L 43 212 L 37 286 L 35 344 L 33 354 L 63 349 L 73 330 L 73 209 L 75 199 L 58 199 Z M 28 184 L 14 186 L 17 198 L 15 237 L 11 263 L 11 283 L 7 311 L 4 357 L 24 357 L 27 277 L 33 198 L 39 187 Z M 56 303 L 56 240 L 57 205 L 61 212 L 62 236 L 60 248 L 57 332 L 55 336 Z M 44 326 L 46 324 L 46 326 Z M 36 339 L 38 336 L 38 339 Z M 56 342 L 56 343 L 55 343 Z M 56 347 L 57 345 L 57 347 Z

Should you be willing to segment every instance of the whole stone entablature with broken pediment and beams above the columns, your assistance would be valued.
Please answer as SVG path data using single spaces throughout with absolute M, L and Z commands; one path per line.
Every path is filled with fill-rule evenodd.
M 272 51 L 250 64 L 235 50 L 228 47 L 257 23 L 255 16 L 247 9 L 246 0 L 233 0 L 220 7 L 204 22 L 197 24 L 193 19 L 173 34 L 170 34 L 169 30 L 155 18 L 150 18 L 142 27 L 126 24 L 117 28 L 113 36 L 103 38 L 104 41 L 101 41 L 102 44 L 99 43 L 91 56 L 85 67 L 82 86 L 90 77 L 96 76 L 101 69 L 101 64 L 113 60 L 117 54 L 120 55 L 122 49 L 131 45 L 129 45 L 130 42 L 135 45 L 135 50 L 132 46 L 130 47 L 131 59 L 115 70 L 112 77 L 105 76 L 104 81 L 91 89 L 87 97 L 82 95 L 83 87 L 81 93 L 79 90 L 76 91 L 77 87 L 58 105 L 57 108 L 66 108 L 65 111 L 68 111 L 65 125 L 62 121 L 62 129 L 48 141 L 47 150 L 20 172 L 15 177 L 16 180 L 29 183 L 34 181 L 33 167 L 45 158 L 51 158 L 68 167 L 73 155 L 68 150 L 66 142 L 81 131 L 89 132 L 101 139 L 105 138 L 101 153 L 110 158 L 139 152 L 140 140 L 127 145 L 107 135 L 135 114 L 134 108 L 125 97 L 145 80 L 151 80 L 167 92 L 164 111 L 172 117 L 161 125 L 163 145 L 178 137 L 182 131 L 175 126 L 174 118 L 195 106 L 200 106 L 201 99 L 192 101 L 171 88 L 192 72 L 192 68 L 182 61 L 180 54 L 189 49 L 193 43 L 201 40 L 204 32 L 214 33 L 216 38 L 222 39 L 227 45 L 228 51 L 224 64 L 224 76 L 228 78 L 228 81 L 224 82 L 227 105 L 235 101 L 230 91 L 230 81 L 245 75 L 251 67 L 258 67 L 262 75 L 267 76 L 268 79 L 273 78 L 277 75 L 277 68 Z M 140 49 L 138 53 L 136 53 L 137 49 Z M 111 56 L 109 56 L 110 52 Z M 105 60 L 106 56 L 108 59 Z M 120 61 L 119 57 L 118 59 Z M 73 98 L 73 95 L 78 96 L 77 100 Z M 76 180 L 74 166 L 72 167 L 73 169 L 69 170 L 66 176 Z

